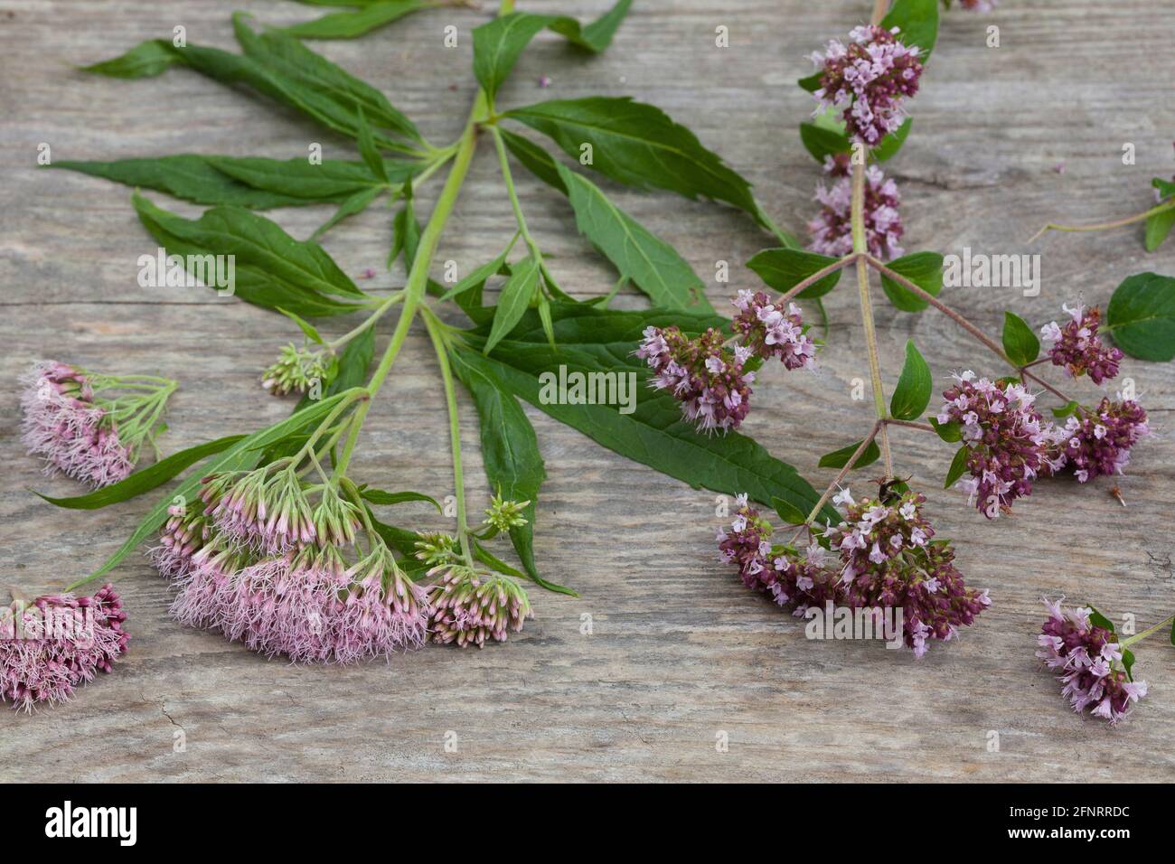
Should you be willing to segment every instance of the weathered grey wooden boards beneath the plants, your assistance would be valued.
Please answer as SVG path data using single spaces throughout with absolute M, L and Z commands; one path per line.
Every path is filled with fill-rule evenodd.
M 606 0 L 566 0 L 589 16 Z M 266 24 L 311 18 L 291 2 L 247 2 Z M 526 4 L 522 4 L 525 8 Z M 546 4 L 533 4 L 546 6 Z M 550 5 L 555 7 L 552 2 Z M 703 0 L 637 2 L 610 51 L 596 59 L 544 34 L 522 58 L 499 102 L 631 94 L 694 129 L 754 182 L 766 209 L 803 233 L 818 170 L 797 125 L 811 112 L 792 86 L 807 53 L 868 14 L 865 0 L 747 0 L 716 12 Z M 35 167 L 47 142 L 55 159 L 115 159 L 179 152 L 354 158 L 337 136 L 290 112 L 187 71 L 155 80 L 89 78 L 72 65 L 118 54 L 182 24 L 193 42 L 231 46 L 239 5 L 195 0 L 0 2 L 0 561 L 4 582 L 26 591 L 58 587 L 115 549 L 146 501 L 96 513 L 58 510 L 29 487 L 72 494 L 45 480 L 19 442 L 16 377 L 29 362 L 59 357 L 110 371 L 157 371 L 182 388 L 166 447 L 177 449 L 283 416 L 263 396 L 260 370 L 294 331 L 281 320 L 213 293 L 143 289 L 135 261 L 154 249 L 129 190 Z M 944 18 L 938 48 L 913 107 L 905 150 L 891 163 L 901 185 L 908 249 L 1040 252 L 1043 287 L 947 289 L 944 299 L 998 333 L 1003 308 L 1040 326 L 1063 301 L 1104 303 L 1127 275 L 1175 272 L 1175 245 L 1147 255 L 1141 228 L 1026 240 L 1050 219 L 1127 215 L 1150 201 L 1149 180 L 1173 173 L 1175 5 L 1170 0 L 1054 4 L 1008 0 L 989 16 Z M 435 141 L 459 130 L 472 98 L 469 31 L 489 11 L 414 15 L 354 42 L 315 47 L 384 89 Z M 441 47 L 455 24 L 461 45 Z M 731 47 L 714 47 L 714 27 Z M 998 25 L 1001 47 L 985 46 Z M 1144 62 L 1140 65 L 1140 59 Z M 539 75 L 553 83 L 540 91 Z M 1137 165 L 1122 166 L 1122 143 Z M 1066 170 L 1054 170 L 1058 163 Z M 564 288 L 603 293 L 613 280 L 576 234 L 566 203 L 519 172 L 528 219 Z M 421 190 L 430 206 L 438 183 Z M 633 216 L 672 242 L 710 287 L 716 304 L 753 287 L 741 267 L 770 246 L 727 208 L 604 183 Z M 175 210 L 199 209 L 163 195 Z M 327 207 L 275 219 L 307 236 Z M 511 233 L 492 148 L 482 141 L 438 260 L 462 272 Z M 334 229 L 328 252 L 350 273 L 381 270 L 390 239 L 384 207 Z M 713 281 L 730 261 L 728 286 Z M 438 270 L 439 272 L 439 270 Z M 764 375 L 747 429 L 814 484 L 820 454 L 859 438 L 870 402 L 850 397 L 868 379 L 858 303 L 850 281 L 827 297 L 830 347 L 814 375 Z M 965 334 L 933 310 L 898 313 L 880 292 L 878 330 L 886 386 L 902 346 L 916 340 L 941 380 L 960 366 L 995 373 Z M 639 297 L 625 302 L 639 304 Z M 324 330 L 343 333 L 349 322 Z M 390 322 L 381 324 L 385 339 Z M 382 340 L 381 340 L 382 343 Z M 388 489 L 451 494 L 446 426 L 431 351 L 414 333 L 392 381 L 374 406 L 354 464 Z M 1069 711 L 1033 656 L 1041 595 L 1099 604 L 1140 627 L 1175 607 L 1170 509 L 1175 408 L 1170 364 L 1127 361 L 1160 436 L 1140 444 L 1119 481 L 1122 508 L 1102 480 L 1079 488 L 1038 485 L 1010 518 L 989 523 L 958 493 L 939 489 L 952 451 L 899 431 L 897 464 L 931 495 L 940 533 L 956 538 L 968 582 L 991 589 L 980 622 L 921 661 L 879 644 L 808 642 L 791 616 L 745 591 L 716 563 L 714 495 L 597 447 L 531 409 L 549 478 L 538 507 L 536 557 L 582 598 L 532 592 L 537 617 L 519 637 L 483 651 L 429 648 L 390 663 L 348 669 L 291 668 L 168 618 L 169 590 L 140 558 L 118 571 L 134 636 L 125 662 L 79 698 L 32 717 L 0 711 L 0 779 L 307 781 L 1124 781 L 1171 779 L 1175 651 L 1143 643 L 1136 670 L 1152 694 L 1121 728 Z M 1087 397 L 1088 386 L 1073 388 Z M 472 404 L 461 400 L 468 483 L 484 500 Z M 451 524 L 427 505 L 405 509 L 419 528 Z M 580 635 L 590 614 L 593 632 Z M 182 730 L 186 752 L 173 751 Z M 457 734 L 457 752 L 444 735 Z M 987 749 L 999 732 L 999 752 Z M 716 735 L 730 738 L 727 752 Z

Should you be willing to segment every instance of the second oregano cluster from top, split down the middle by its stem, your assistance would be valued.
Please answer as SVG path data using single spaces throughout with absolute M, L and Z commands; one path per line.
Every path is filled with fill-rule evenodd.
M 848 156 L 825 158 L 825 173 L 832 185 L 819 183 L 815 200 L 820 213 L 808 222 L 812 242 L 808 249 L 821 255 L 844 257 L 853 250 L 853 181 L 850 176 Z M 885 176 L 880 168 L 871 165 L 865 169 L 865 241 L 870 254 L 884 261 L 902 254 L 899 245 L 902 235 L 901 214 L 898 206 L 901 196 L 898 185 Z

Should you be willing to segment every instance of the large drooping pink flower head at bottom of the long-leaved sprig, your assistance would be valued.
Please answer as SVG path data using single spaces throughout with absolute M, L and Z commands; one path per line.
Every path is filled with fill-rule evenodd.
M 519 585 L 472 570 L 461 580 L 442 576 L 435 585 L 415 581 L 365 508 L 340 494 L 354 490 L 350 481 L 307 484 L 296 464 L 296 457 L 277 460 L 204 477 L 203 505 L 174 509 L 149 554 L 179 588 L 172 605 L 179 621 L 219 629 L 267 656 L 345 664 L 421 648 L 430 634 L 461 645 L 505 638 L 498 607 L 477 605 L 483 595 L 450 596 L 472 583 L 509 595 L 509 622 L 521 629 L 530 604 Z M 511 503 L 499 502 L 496 511 L 513 513 Z M 422 543 L 430 563 L 443 562 L 428 576 L 457 557 L 451 538 Z M 521 617 L 513 615 L 518 609 Z

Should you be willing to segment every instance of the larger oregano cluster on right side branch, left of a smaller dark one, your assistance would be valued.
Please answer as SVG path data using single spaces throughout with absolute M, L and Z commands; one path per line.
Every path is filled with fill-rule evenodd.
M 959 423 L 969 448 L 967 470 L 959 481 L 988 518 L 1008 511 L 1012 502 L 1032 493 L 1038 476 L 1058 470 L 1065 458 L 1055 453 L 1056 427 L 1033 407 L 1035 396 L 1020 383 L 998 384 L 967 370 L 953 376 L 942 394 L 940 423 Z

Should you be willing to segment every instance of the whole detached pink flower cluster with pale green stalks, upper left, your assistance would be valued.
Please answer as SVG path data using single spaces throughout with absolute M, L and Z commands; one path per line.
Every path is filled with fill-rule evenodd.
M 46 474 L 95 488 L 130 475 L 175 390 L 166 379 L 96 375 L 55 361 L 35 364 L 21 383 L 28 453 L 45 458 Z

